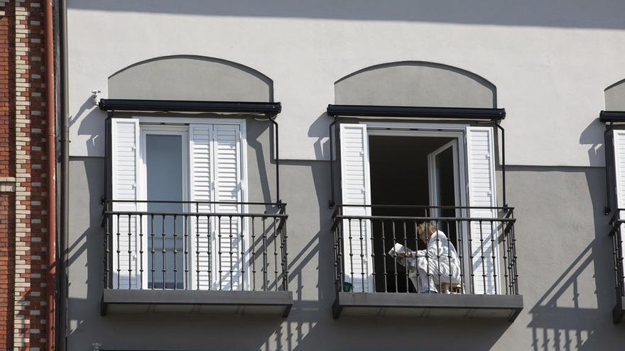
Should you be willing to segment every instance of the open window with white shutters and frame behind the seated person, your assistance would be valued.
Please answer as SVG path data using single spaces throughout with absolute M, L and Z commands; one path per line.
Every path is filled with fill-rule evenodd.
M 342 213 L 361 217 L 343 223 L 345 282 L 351 289 L 415 291 L 409 272 L 388 252 L 395 243 L 425 249 L 416 228 L 430 218 L 457 247 L 464 267 L 461 289 L 499 294 L 501 228 L 488 221 L 497 218 L 492 128 L 342 123 L 339 130 Z M 470 217 L 483 221 L 445 221 Z

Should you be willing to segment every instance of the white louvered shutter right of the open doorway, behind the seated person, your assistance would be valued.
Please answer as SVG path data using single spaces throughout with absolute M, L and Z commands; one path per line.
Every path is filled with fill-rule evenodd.
M 491 127 L 467 127 L 469 206 L 495 207 L 495 153 Z M 496 218 L 497 211 L 472 208 L 473 218 Z M 497 223 L 472 221 L 469 250 L 475 294 L 501 294 L 497 249 Z M 493 260 L 493 257 L 495 259 Z M 467 273 L 465 273 L 467 274 Z

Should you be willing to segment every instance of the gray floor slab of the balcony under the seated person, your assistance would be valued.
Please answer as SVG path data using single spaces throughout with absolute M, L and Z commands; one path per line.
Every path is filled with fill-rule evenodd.
M 514 321 L 521 295 L 339 292 L 332 313 L 339 316 L 486 317 Z

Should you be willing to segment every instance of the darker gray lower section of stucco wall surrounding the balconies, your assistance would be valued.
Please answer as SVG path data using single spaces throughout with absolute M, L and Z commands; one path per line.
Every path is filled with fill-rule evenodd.
M 258 133 L 259 145 L 266 143 L 265 133 Z M 254 193 L 250 199 L 258 199 L 273 190 L 273 168 L 267 156 L 259 158 L 253 152 L 249 162 L 250 169 L 259 169 L 259 162 L 261 173 L 268 172 L 266 178 L 249 174 Z M 117 350 L 381 350 L 415 344 L 425 350 L 621 350 L 625 345 L 625 325 L 613 325 L 610 318 L 615 300 L 612 248 L 602 213 L 604 169 L 509 167 L 509 204 L 518 218 L 520 292 L 526 306 L 514 323 L 346 316 L 333 320 L 329 164 L 291 161 L 281 170 L 282 197 L 290 215 L 289 286 L 295 297 L 287 319 L 175 313 L 101 317 L 99 196 L 104 160 L 73 157 L 69 350 L 91 350 L 93 342 Z

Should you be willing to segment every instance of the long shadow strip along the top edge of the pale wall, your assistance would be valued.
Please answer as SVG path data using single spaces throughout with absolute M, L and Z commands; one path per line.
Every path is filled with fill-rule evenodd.
M 72 1 L 70 9 L 136 11 L 205 16 L 327 18 L 354 21 L 623 29 L 625 3 L 619 0 L 462 1 Z M 619 11 L 620 8 L 620 11 Z

